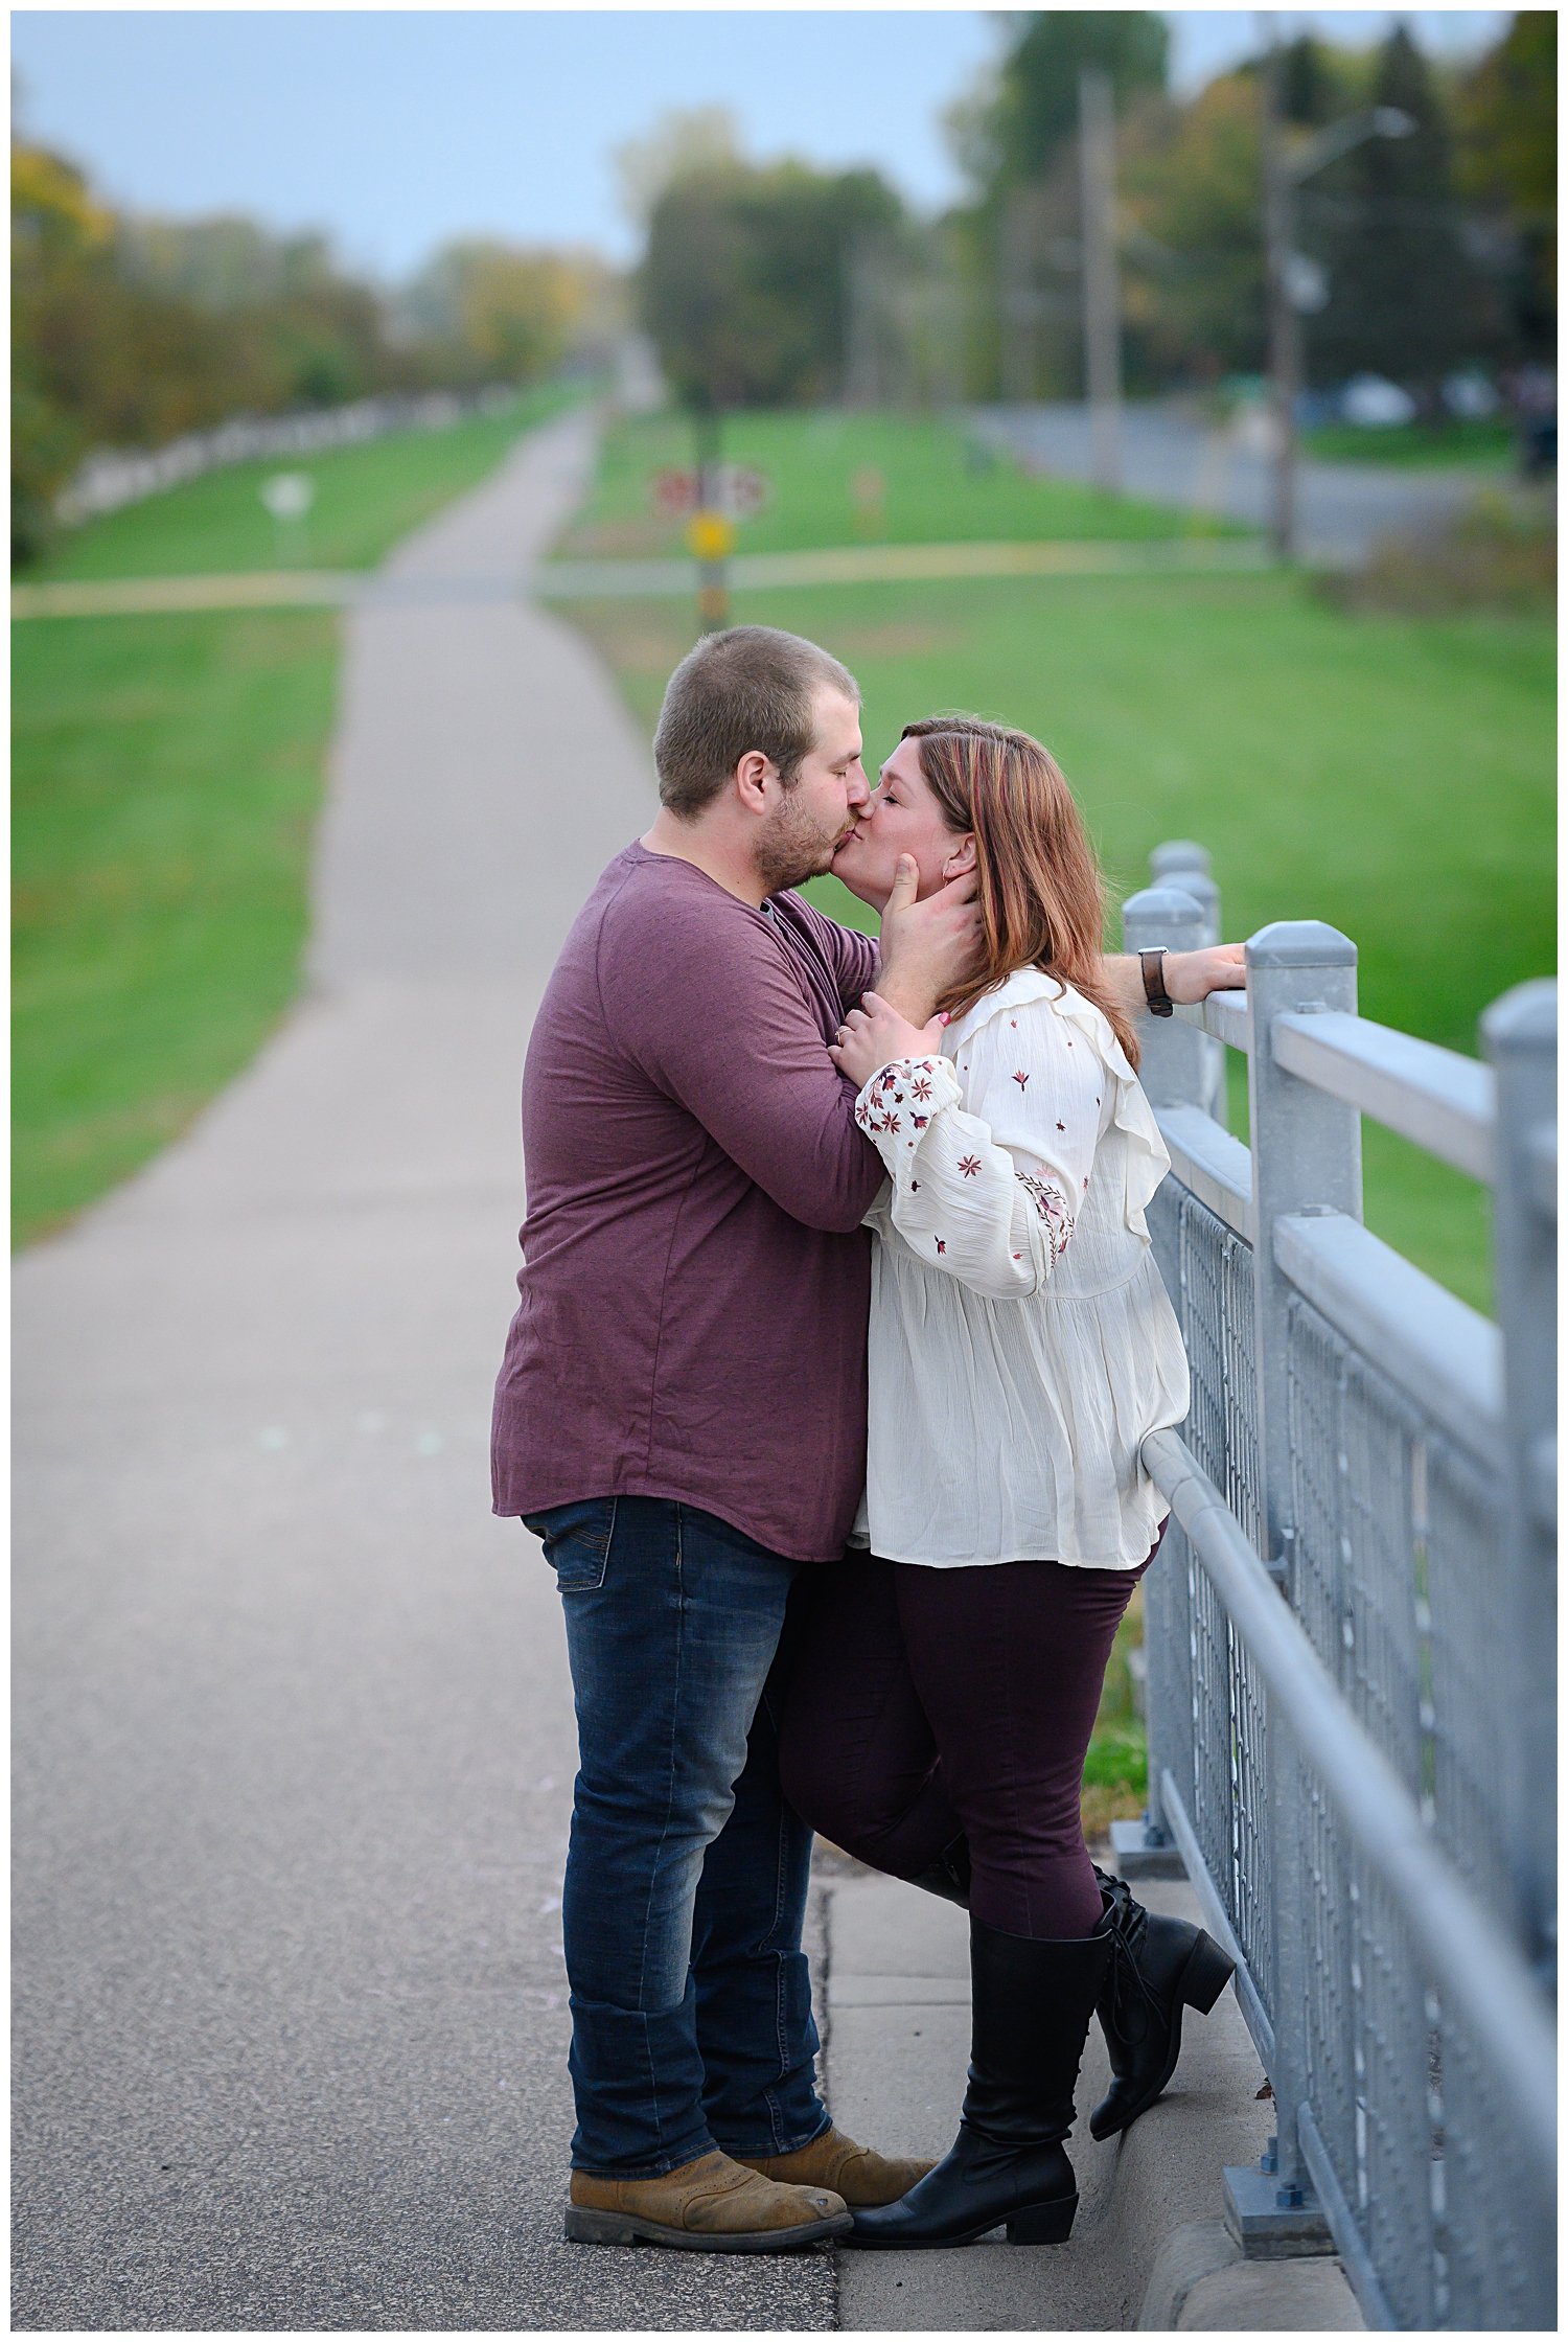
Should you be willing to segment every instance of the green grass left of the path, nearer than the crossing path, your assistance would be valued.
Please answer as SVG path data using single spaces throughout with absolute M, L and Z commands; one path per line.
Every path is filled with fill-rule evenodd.
M 12 1241 L 176 1138 L 295 998 L 328 616 L 14 628 Z

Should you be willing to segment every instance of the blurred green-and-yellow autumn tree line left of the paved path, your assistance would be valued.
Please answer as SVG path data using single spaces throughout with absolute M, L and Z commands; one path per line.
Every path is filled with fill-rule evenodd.
M 592 253 L 447 244 L 386 293 L 325 237 L 117 213 L 66 157 L 12 143 L 12 557 L 96 447 L 384 391 L 524 386 L 608 347 Z

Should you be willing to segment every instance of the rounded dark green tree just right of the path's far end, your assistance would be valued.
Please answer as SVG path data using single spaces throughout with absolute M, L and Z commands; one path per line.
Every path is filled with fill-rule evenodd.
M 810 405 L 843 389 L 850 272 L 903 206 L 875 171 L 718 162 L 653 204 L 641 319 L 693 408 Z

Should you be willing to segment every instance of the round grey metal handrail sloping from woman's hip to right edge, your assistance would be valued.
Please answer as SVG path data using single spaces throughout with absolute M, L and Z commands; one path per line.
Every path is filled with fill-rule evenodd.
M 1421 1932 L 1432 1977 L 1517 2101 L 1531 2152 L 1556 2169 L 1556 2035 L 1517 1949 L 1432 1845 L 1381 1747 L 1362 1731 L 1322 1660 L 1280 1602 L 1236 1513 L 1177 1431 L 1154 1431 L 1142 1457 L 1215 1581 L 1301 1754 L 1322 1775 L 1362 1855 Z

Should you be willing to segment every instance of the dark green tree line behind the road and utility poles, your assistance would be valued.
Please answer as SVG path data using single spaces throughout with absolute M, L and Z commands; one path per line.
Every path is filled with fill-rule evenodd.
M 646 213 L 637 297 L 690 405 L 1079 396 L 1079 70 L 1116 105 L 1116 239 L 1130 389 L 1254 375 L 1266 354 L 1264 59 L 1170 89 L 1168 26 L 1140 9 L 1004 19 L 948 133 L 969 194 L 915 220 L 878 171 L 754 162 L 721 115 L 627 150 Z M 1519 12 L 1465 70 L 1397 26 L 1374 52 L 1313 35 L 1282 56 L 1294 148 L 1369 108 L 1367 138 L 1297 199 L 1313 265 L 1308 382 L 1376 372 L 1439 412 L 1453 370 L 1552 363 L 1556 16 Z

